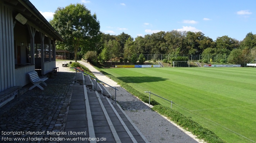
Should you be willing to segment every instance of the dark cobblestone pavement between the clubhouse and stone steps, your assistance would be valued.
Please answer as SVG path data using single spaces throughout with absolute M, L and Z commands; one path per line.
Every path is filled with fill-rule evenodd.
M 34 87 L 21 95 L 20 100 L 15 98 L 1 107 L 0 142 L 58 142 L 50 141 L 50 137 L 56 139 L 58 135 L 49 133 L 63 131 L 74 76 L 75 72 L 60 71 L 54 78 L 45 81 L 47 87 L 40 84 L 44 90 Z M 23 89 L 31 86 L 29 84 Z M 15 141 L 17 138 L 25 138 L 26 141 Z

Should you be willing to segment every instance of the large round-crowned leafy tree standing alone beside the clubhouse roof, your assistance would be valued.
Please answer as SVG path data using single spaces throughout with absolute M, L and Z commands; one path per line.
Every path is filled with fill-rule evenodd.
M 74 51 L 75 61 L 77 61 L 79 47 L 86 51 L 93 42 L 96 43 L 99 40 L 97 38 L 100 33 L 99 21 L 96 14 L 91 14 L 84 4 L 58 7 L 50 24 L 64 38 L 64 46 Z

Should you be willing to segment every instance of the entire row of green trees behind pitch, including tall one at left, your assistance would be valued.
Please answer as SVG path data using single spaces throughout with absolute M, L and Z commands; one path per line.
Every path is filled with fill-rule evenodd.
M 229 63 L 237 64 L 245 58 L 254 59 L 256 55 L 256 35 L 252 32 L 247 33 L 242 41 L 227 35 L 212 40 L 202 32 L 177 30 L 136 38 L 124 32 L 105 34 L 99 31 L 96 14 L 91 14 L 84 4 L 79 3 L 58 8 L 50 24 L 65 39 L 64 44 L 57 45 L 57 48 L 74 52 L 75 59 L 85 55 L 95 61 L 117 61 L 120 58 L 129 60 L 133 54 L 200 54 L 203 58 L 209 54 L 222 54 L 227 55 Z

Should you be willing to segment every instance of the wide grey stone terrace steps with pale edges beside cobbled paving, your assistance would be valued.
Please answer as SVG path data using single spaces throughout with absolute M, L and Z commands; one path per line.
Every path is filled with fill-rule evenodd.
M 86 76 L 84 78 L 87 79 Z M 85 83 L 96 84 L 96 81 Z M 102 84 L 97 84 L 97 91 L 101 93 L 86 86 L 88 85 L 74 85 L 64 132 L 85 132 L 85 135 L 79 137 L 98 138 L 97 142 L 148 142 L 122 108 L 104 96 L 111 95 Z M 63 138 L 74 137 L 78 136 L 63 135 Z

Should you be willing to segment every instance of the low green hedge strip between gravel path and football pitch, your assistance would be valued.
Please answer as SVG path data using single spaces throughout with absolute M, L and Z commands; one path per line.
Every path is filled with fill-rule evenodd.
M 128 92 L 133 94 L 134 96 L 141 99 L 141 101 L 148 103 L 149 97 L 147 95 L 144 95 L 143 93 L 137 91 L 132 86 L 128 85 L 127 83 L 123 82 L 122 80 L 119 80 L 115 76 L 102 71 L 101 67 L 95 67 L 98 71 L 103 73 L 105 76 L 111 78 L 113 81 L 117 82 L 121 87 L 126 89 Z M 173 109 L 170 109 L 166 106 L 161 105 L 157 101 L 151 98 L 150 103 L 154 106 L 152 109 L 158 112 L 159 114 L 166 116 L 171 121 L 174 121 L 180 127 L 183 129 L 190 131 L 193 133 L 193 135 L 196 135 L 199 139 L 204 140 L 205 142 L 210 143 L 224 143 L 224 141 L 219 138 L 216 134 L 214 134 L 212 131 L 202 127 L 198 123 L 192 121 L 191 119 L 187 118 L 186 116 L 182 115 L 180 112 L 175 111 Z

